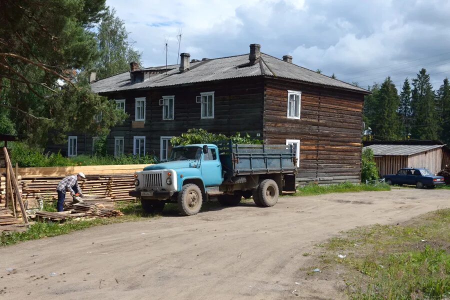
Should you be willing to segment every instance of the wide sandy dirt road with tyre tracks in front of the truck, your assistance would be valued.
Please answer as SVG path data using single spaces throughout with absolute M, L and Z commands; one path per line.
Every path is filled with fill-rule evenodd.
M 244 203 L 191 217 L 98 226 L 0 248 L 0 295 L 342 298 L 345 295 L 338 291 L 343 283 L 296 277 L 310 259 L 302 253 L 339 230 L 401 222 L 443 207 L 450 207 L 450 190 L 407 188 L 286 196 L 270 208 Z M 56 275 L 50 276 L 52 272 Z

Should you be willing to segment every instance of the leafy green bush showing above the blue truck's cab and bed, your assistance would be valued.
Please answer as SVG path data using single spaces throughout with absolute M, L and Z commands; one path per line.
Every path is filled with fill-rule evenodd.
M 188 129 L 186 133 L 181 133 L 180 136 L 174 136 L 170 139 L 172 145 L 187 145 L 194 143 L 212 143 L 218 140 L 231 139 L 233 143 L 246 143 L 246 144 L 261 144 L 262 140 L 251 138 L 248 133 L 241 136 L 239 132 L 234 135 L 226 136 L 222 133 L 211 133 L 201 128 Z

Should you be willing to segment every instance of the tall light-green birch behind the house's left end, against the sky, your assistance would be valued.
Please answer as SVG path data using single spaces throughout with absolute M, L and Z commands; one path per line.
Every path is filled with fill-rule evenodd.
M 115 9 L 107 9 L 95 35 L 100 57 L 95 63 L 99 79 L 129 70 L 131 61 L 139 62 L 141 54 L 126 40 L 128 32 L 123 21 L 115 15 Z

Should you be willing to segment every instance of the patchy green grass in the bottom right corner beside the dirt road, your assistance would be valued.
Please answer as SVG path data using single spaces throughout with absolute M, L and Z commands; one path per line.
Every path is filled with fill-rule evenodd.
M 350 299 L 442 299 L 450 296 L 449 224 L 450 209 L 439 209 L 403 225 L 358 227 L 319 245 L 317 259 L 345 270 Z

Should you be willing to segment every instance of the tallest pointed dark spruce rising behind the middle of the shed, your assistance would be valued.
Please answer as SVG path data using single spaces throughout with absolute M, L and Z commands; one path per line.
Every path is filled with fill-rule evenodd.
M 411 107 L 412 121 L 411 135 L 416 139 L 438 139 L 436 103 L 434 92 L 429 83 L 429 74 L 422 68 L 417 77 L 412 79 Z

